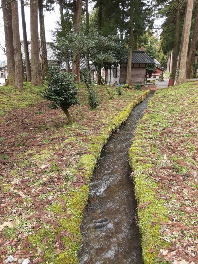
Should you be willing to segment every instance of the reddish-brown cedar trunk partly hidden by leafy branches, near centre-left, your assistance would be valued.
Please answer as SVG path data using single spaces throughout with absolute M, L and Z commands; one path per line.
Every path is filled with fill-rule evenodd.
M 74 33 L 79 33 L 81 30 L 81 15 L 82 15 L 82 0 L 76 1 L 76 9 L 75 9 L 75 18 L 74 18 Z M 76 75 L 74 78 L 75 82 L 80 82 L 80 52 L 74 56 L 76 58 L 74 59 L 77 63 L 72 64 L 72 73 Z

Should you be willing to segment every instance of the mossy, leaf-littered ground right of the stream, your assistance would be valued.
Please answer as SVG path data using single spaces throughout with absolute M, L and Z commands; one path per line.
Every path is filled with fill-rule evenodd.
M 198 263 L 197 91 L 155 92 L 129 151 L 145 264 Z

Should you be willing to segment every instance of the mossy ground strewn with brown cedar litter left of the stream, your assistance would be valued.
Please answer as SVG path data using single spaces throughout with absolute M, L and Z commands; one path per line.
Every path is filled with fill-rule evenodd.
M 91 110 L 85 86 L 80 105 L 51 110 L 40 87 L 19 92 L 0 87 L 0 259 L 13 263 L 75 264 L 88 186 L 100 151 L 111 132 L 149 91 L 123 89 L 109 100 L 96 86 L 100 106 Z M 0 261 L 0 262 L 1 262 Z

